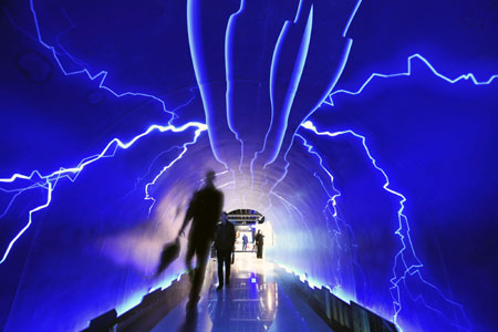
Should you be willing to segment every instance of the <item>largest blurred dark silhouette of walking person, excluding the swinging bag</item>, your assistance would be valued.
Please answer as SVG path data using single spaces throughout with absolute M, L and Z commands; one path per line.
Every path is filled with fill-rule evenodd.
M 203 288 L 206 272 L 209 248 L 216 231 L 216 224 L 219 220 L 224 207 L 224 194 L 216 189 L 214 180 L 216 174 L 212 170 L 206 173 L 204 187 L 196 191 L 190 199 L 184 224 L 178 232 L 178 237 L 184 234 L 188 222 L 193 220 L 188 234 L 187 268 L 194 273 L 187 310 L 197 305 Z M 196 268 L 191 270 L 191 259 L 196 256 Z M 190 274 L 191 276 L 191 274 Z

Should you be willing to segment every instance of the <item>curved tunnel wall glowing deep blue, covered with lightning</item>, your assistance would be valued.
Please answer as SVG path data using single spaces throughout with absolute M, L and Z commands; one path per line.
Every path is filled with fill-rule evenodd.
M 262 21 L 290 22 L 299 3 L 309 10 L 313 1 L 283 2 L 271 2 Z M 310 62 L 329 66 L 340 60 L 334 50 L 344 54 L 346 38 L 336 27 L 347 23 L 343 13 L 356 2 L 323 3 L 313 2 L 313 15 L 297 15 L 297 27 L 311 35 Z M 31 4 L 7 1 L 0 15 L 7 45 L 0 53 L 0 178 L 32 175 L 2 180 L 0 328 L 80 330 L 168 286 L 185 270 L 186 242 L 180 259 L 153 279 L 160 249 L 175 238 L 191 193 L 212 168 L 225 210 L 262 212 L 276 235 L 267 258 L 310 283 L 405 331 L 494 330 L 498 94 L 489 77 L 498 72 L 498 50 L 489 42 L 497 30 L 491 1 L 361 3 L 332 97 L 312 98 L 313 83 L 330 81 L 338 69 L 304 69 L 310 76 L 300 112 L 320 107 L 304 126 L 302 114 L 290 123 L 297 135 L 282 138 L 288 148 L 274 163 L 255 164 L 252 183 L 249 163 L 225 167 L 243 156 L 232 134 L 216 142 L 224 153 L 218 157 L 228 158 L 224 165 L 212 135 L 196 125 L 206 122 L 207 106 L 185 3 Z M 230 2 L 222 17 L 239 4 Z M 336 20 L 328 20 L 333 12 Z M 319 46 L 318 39 L 328 42 Z M 290 50 L 299 49 L 290 40 Z M 262 56 L 256 50 L 245 61 Z M 272 50 L 261 53 L 271 58 Z M 409 58 L 415 53 L 426 58 Z M 369 80 L 374 72 L 405 74 Z M 468 72 L 474 81 L 452 81 Z M 266 81 L 237 79 L 243 91 L 269 89 Z M 250 97 L 238 96 L 238 105 Z M 266 137 L 267 104 L 235 113 L 246 151 L 261 147 L 251 139 Z M 168 128 L 189 122 L 184 131 Z M 149 133 L 153 124 L 162 129 Z M 108 145 L 116 137 L 133 145 Z M 50 184 L 41 178 L 79 165 L 82 172 Z

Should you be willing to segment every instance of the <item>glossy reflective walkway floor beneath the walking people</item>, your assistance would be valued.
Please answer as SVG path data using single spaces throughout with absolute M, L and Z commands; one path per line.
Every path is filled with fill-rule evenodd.
M 216 261 L 211 263 L 197 311 L 186 314 L 185 299 L 152 331 L 331 331 L 307 303 L 279 286 L 273 264 L 255 253 L 236 253 L 230 286 L 219 291 Z

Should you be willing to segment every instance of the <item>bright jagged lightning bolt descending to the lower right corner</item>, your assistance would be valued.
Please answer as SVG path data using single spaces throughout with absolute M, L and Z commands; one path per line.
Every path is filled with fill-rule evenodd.
M 377 165 L 376 159 L 375 159 L 375 158 L 372 156 L 372 154 L 370 153 L 370 149 L 369 149 L 369 147 L 366 146 L 366 137 L 365 137 L 365 136 L 362 136 L 362 135 L 360 135 L 360 134 L 356 134 L 356 133 L 354 133 L 353 131 L 341 131 L 341 132 L 334 132 L 334 133 L 331 133 L 331 132 L 319 132 L 318 128 L 317 128 L 317 126 L 315 126 L 311 121 L 304 122 L 304 123 L 302 124 L 302 127 L 303 127 L 303 128 L 307 128 L 307 129 L 309 129 L 309 131 L 311 131 L 311 132 L 313 132 L 314 134 L 320 135 L 320 136 L 336 137 L 336 136 L 340 136 L 340 135 L 352 135 L 352 136 L 354 136 L 354 137 L 356 137 L 356 138 L 360 138 L 361 142 L 362 142 L 362 144 L 363 144 L 363 148 L 364 148 L 366 155 L 369 156 L 369 158 L 370 158 L 371 162 L 372 162 L 372 165 L 374 166 L 375 169 L 377 169 L 377 170 L 383 175 L 383 177 L 384 177 L 384 179 L 385 179 L 385 184 L 383 185 L 384 190 L 386 190 L 387 193 L 390 193 L 390 194 L 392 194 L 392 195 L 395 195 L 395 196 L 397 196 L 397 197 L 400 198 L 400 209 L 397 210 L 400 227 L 398 227 L 398 229 L 395 231 L 395 235 L 397 235 L 397 236 L 401 238 L 401 242 L 402 242 L 402 245 L 403 245 L 403 248 L 400 250 L 398 253 L 396 253 L 396 256 L 395 256 L 395 258 L 394 258 L 393 278 L 390 280 L 391 283 L 392 283 L 392 287 L 391 287 L 391 295 L 392 295 L 392 298 L 393 298 L 393 305 L 394 305 L 394 311 L 395 311 L 394 317 L 393 317 L 394 323 L 397 322 L 397 315 L 398 315 L 400 311 L 402 310 L 401 294 L 400 294 L 400 282 L 402 282 L 402 281 L 404 282 L 405 279 L 406 279 L 406 276 L 408 276 L 408 274 L 409 274 L 409 276 L 413 276 L 413 274 L 415 274 L 415 273 L 418 274 L 418 277 L 421 278 L 421 281 L 423 281 L 426 286 L 430 287 L 430 288 L 434 289 L 434 290 L 437 290 L 438 294 L 439 294 L 446 302 L 448 302 L 448 303 L 450 303 L 450 304 L 454 304 L 454 305 L 457 305 L 457 307 L 461 310 L 461 313 L 463 313 L 464 317 L 466 318 L 467 322 L 469 322 L 469 320 L 468 320 L 468 318 L 467 318 L 467 315 L 466 315 L 466 313 L 465 313 L 465 311 L 464 311 L 461 304 L 459 304 L 459 303 L 457 303 L 457 302 L 455 302 L 455 301 L 452 301 L 452 300 L 447 299 L 447 298 L 443 294 L 443 292 L 442 292 L 440 290 L 437 289 L 436 286 L 434 286 L 434 284 L 432 284 L 432 283 L 429 283 L 429 282 L 427 282 L 426 280 L 424 280 L 424 279 L 422 278 L 422 274 L 421 274 L 421 272 L 419 272 L 419 269 L 422 269 L 422 268 L 424 267 L 424 264 L 421 262 L 421 260 L 418 259 L 418 257 L 417 257 L 416 253 L 415 253 L 415 250 L 414 250 L 414 248 L 413 248 L 413 242 L 412 242 L 412 239 L 411 239 L 411 237 L 409 237 L 409 230 L 411 230 L 411 229 L 409 229 L 409 225 L 408 225 L 408 218 L 403 214 L 403 211 L 404 211 L 404 209 L 405 209 L 405 201 L 406 201 L 406 198 L 405 198 L 401 193 L 395 191 L 395 190 L 393 190 L 393 189 L 390 188 L 390 185 L 391 185 L 390 178 L 388 178 L 387 174 L 384 172 L 384 169 L 382 169 L 382 168 Z M 403 234 L 402 234 L 403 225 L 406 226 L 406 235 L 403 235 Z M 405 243 L 405 238 L 408 240 L 408 243 Z M 405 251 L 406 249 L 408 249 L 407 247 L 409 247 L 409 249 L 411 249 L 411 252 L 408 252 L 408 253 L 413 255 L 413 258 L 412 258 L 412 259 L 415 259 L 415 260 L 416 260 L 416 263 L 413 263 L 413 264 L 409 266 L 409 267 L 408 267 L 408 264 L 406 263 L 405 258 L 404 258 L 404 251 Z M 396 273 L 398 259 L 402 260 L 403 266 L 405 267 L 405 271 L 404 271 L 404 274 L 403 274 L 403 276 L 397 276 L 397 273 Z M 412 298 L 413 298 L 413 297 L 412 297 Z M 422 294 L 421 294 L 421 295 L 417 297 L 417 298 L 423 298 L 423 297 L 422 297 Z M 454 323 L 453 323 L 449 319 L 447 319 L 440 311 L 438 311 L 438 310 L 436 310 L 436 309 L 434 309 L 434 308 L 432 308 L 432 307 L 427 307 L 427 308 L 428 308 L 428 309 L 432 309 L 432 310 L 434 310 L 434 311 L 436 311 L 436 312 L 438 312 L 438 313 L 442 314 L 448 322 L 450 322 L 452 324 L 454 324 Z M 455 325 L 455 324 L 454 324 L 454 325 Z M 460 326 L 460 325 L 457 325 L 457 326 L 458 326 L 458 328 L 461 328 L 461 329 L 465 329 L 465 330 L 468 330 L 468 329 L 465 328 L 465 326 Z

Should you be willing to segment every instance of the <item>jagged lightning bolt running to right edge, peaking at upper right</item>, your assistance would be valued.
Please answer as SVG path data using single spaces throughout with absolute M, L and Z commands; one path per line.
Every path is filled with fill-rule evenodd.
M 442 80 L 445 80 L 446 82 L 450 83 L 450 84 L 455 84 L 458 83 L 460 81 L 471 81 L 475 85 L 488 85 L 491 84 L 492 81 L 495 81 L 498 77 L 498 74 L 491 75 L 487 81 L 478 81 L 476 79 L 476 76 L 473 73 L 468 73 L 468 74 L 461 74 L 459 76 L 457 76 L 456 79 L 449 79 L 448 76 L 443 75 L 442 73 L 439 73 L 432 64 L 430 62 L 428 62 L 428 60 L 426 60 L 424 56 L 422 56 L 418 53 L 415 53 L 411 56 L 408 56 L 407 59 L 407 70 L 406 72 L 402 72 L 402 73 L 395 73 L 395 74 L 381 74 L 381 73 L 373 73 L 372 75 L 370 75 L 370 77 L 362 84 L 362 86 L 360 86 L 360 89 L 357 89 L 356 91 L 347 91 L 347 90 L 336 90 L 334 92 L 332 92 L 329 96 L 329 101 L 324 102 L 325 104 L 329 105 L 334 105 L 332 97 L 336 94 L 349 94 L 349 95 L 359 95 L 363 92 L 363 90 L 369 85 L 370 82 L 372 82 L 372 80 L 374 80 L 375 77 L 380 77 L 380 79 L 393 79 L 393 77 L 402 77 L 402 76 L 411 76 L 412 75 L 412 62 L 413 60 L 419 60 L 422 61 L 436 76 L 438 76 Z

